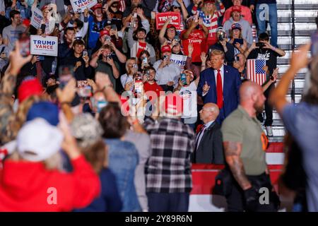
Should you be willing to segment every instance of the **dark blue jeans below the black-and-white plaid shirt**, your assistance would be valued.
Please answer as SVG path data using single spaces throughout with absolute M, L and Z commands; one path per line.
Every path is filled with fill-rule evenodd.
M 149 212 L 188 212 L 189 193 L 148 192 Z

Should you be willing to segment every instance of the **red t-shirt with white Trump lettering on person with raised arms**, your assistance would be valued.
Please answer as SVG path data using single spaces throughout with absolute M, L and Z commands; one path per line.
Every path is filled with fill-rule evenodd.
M 184 32 L 186 32 L 186 30 L 182 30 L 180 34 L 181 39 Z M 192 43 L 193 46 L 192 62 L 201 62 L 201 52 L 205 52 L 206 44 L 206 38 L 204 37 L 203 30 L 194 29 L 186 40 L 182 39 L 184 55 L 186 56 L 188 55 L 189 43 Z

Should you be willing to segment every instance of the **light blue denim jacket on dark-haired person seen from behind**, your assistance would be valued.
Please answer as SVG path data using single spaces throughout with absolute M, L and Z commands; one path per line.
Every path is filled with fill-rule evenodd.
M 141 211 L 134 185 L 135 169 L 139 155 L 133 143 L 118 138 L 105 139 L 108 146 L 109 168 L 115 174 L 122 212 Z

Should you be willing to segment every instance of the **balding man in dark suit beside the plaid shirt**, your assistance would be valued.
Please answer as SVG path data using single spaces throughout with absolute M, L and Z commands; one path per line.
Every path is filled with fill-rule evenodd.
M 207 103 L 200 111 L 200 119 L 204 122 L 196 134 L 196 147 L 192 154 L 192 162 L 205 164 L 224 164 L 222 134 L 216 122 L 218 105 Z

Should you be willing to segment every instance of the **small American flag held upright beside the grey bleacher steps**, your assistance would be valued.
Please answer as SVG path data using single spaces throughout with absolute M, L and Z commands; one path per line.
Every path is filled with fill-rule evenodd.
M 263 67 L 266 66 L 266 60 L 264 59 L 248 59 L 247 60 L 247 78 L 263 85 L 266 82 L 266 71 Z

